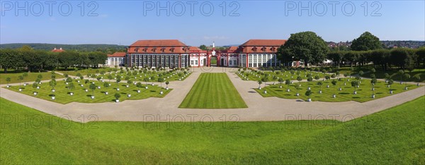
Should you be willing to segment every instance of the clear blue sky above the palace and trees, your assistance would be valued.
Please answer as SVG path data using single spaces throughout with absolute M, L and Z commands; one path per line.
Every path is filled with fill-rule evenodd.
M 81 2 L 57 1 L 50 14 L 46 1 L 2 0 L 1 44 L 128 45 L 138 39 L 179 39 L 193 46 L 210 45 L 212 41 L 227 45 L 242 44 L 248 39 L 288 39 L 290 34 L 302 31 L 316 32 L 334 42 L 351 41 L 365 31 L 381 40 L 425 40 L 424 1 L 197 1 L 193 16 L 190 9 L 196 1 L 94 1 L 91 6 L 84 1 L 84 16 Z M 220 7 L 223 2 L 227 6 L 225 16 Z M 170 16 L 166 16 L 166 10 L 157 16 L 157 5 L 167 3 Z M 331 10 L 334 3 L 339 3 L 335 5 L 335 16 Z M 17 16 L 16 5 L 22 8 Z M 72 11 L 68 12 L 67 5 L 72 6 Z M 210 5 L 214 11 L 210 11 Z M 299 14 L 300 5 L 306 9 Z M 95 16 L 88 16 L 95 6 Z M 355 11 L 351 6 L 355 6 Z M 235 8 L 234 16 L 230 16 Z M 59 11 L 69 16 L 62 16 Z

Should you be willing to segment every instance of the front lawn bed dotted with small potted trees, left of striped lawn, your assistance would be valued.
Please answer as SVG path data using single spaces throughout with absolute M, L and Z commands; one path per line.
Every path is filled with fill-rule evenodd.
M 91 82 L 95 82 L 96 87 L 100 86 L 101 89 L 94 90 L 94 97 L 95 99 L 91 99 L 92 91 L 89 89 L 89 85 Z M 147 85 L 148 89 L 146 90 L 145 83 L 143 83 L 143 87 L 140 87 L 140 93 L 137 93 L 137 87 L 136 85 L 129 85 L 129 87 L 126 87 L 126 83 L 120 83 L 119 88 L 120 91 L 117 91 L 116 88 L 118 87 L 118 84 L 116 82 L 111 82 L 111 87 L 103 87 L 104 82 L 100 82 L 97 80 L 91 81 L 87 84 L 84 83 L 84 80 L 81 80 L 81 83 L 77 82 L 77 80 L 74 80 L 74 90 L 68 90 L 67 85 L 65 84 L 65 81 L 57 81 L 57 86 L 55 87 L 55 92 L 52 92 L 52 87 L 49 86 L 49 82 L 42 83 L 40 85 L 40 89 L 34 89 L 33 85 L 27 85 L 24 87 L 23 85 L 21 88 L 23 88 L 22 92 L 23 94 L 30 95 L 32 97 L 37 97 L 40 99 L 46 99 L 52 102 L 57 102 L 61 104 L 68 104 L 70 102 L 81 102 L 81 103 L 99 103 L 99 102 L 115 102 L 115 93 L 119 93 L 121 95 L 120 102 L 126 100 L 126 99 L 146 99 L 149 97 L 164 97 L 166 94 L 168 94 L 171 89 L 165 90 L 164 88 L 162 91 L 163 94 L 160 94 L 161 87 L 157 85 Z M 84 85 L 81 87 L 80 85 Z M 165 84 L 163 83 L 163 87 L 165 87 Z M 6 87 L 5 87 L 6 88 Z M 8 90 L 13 90 L 15 92 L 18 92 L 19 85 L 6 88 Z M 89 92 L 85 92 L 85 90 L 89 90 Z M 34 96 L 33 92 L 38 92 L 36 96 Z M 74 95 L 69 95 L 69 92 L 74 92 Z M 105 94 L 105 92 L 108 92 L 108 95 Z M 55 94 L 55 100 L 52 100 L 52 94 Z M 128 97 L 127 94 L 131 94 L 131 97 Z

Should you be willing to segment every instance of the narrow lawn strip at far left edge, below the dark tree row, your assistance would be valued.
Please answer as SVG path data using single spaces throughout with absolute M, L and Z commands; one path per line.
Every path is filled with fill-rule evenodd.
M 18 80 L 19 75 L 23 75 L 23 73 L 0 73 L 0 84 L 7 84 L 6 78 L 11 78 L 11 82 L 9 82 L 9 83 L 19 83 L 19 80 Z M 24 78 L 22 83 L 24 81 L 33 82 L 33 81 L 35 81 L 35 79 L 37 79 L 38 75 L 42 75 L 41 80 L 52 79 L 52 73 L 50 73 L 50 72 L 42 72 L 42 73 L 31 72 L 31 73 L 28 73 L 28 77 Z M 56 78 L 64 78 L 64 76 L 62 76 L 60 74 L 55 74 L 55 76 L 56 76 Z

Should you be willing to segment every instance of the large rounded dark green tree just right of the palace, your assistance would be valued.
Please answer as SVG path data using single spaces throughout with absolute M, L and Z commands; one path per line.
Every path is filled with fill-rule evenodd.
M 328 51 L 326 42 L 316 33 L 298 32 L 290 35 L 288 41 L 278 48 L 277 54 L 283 62 L 302 60 L 307 68 L 308 63 L 324 61 Z

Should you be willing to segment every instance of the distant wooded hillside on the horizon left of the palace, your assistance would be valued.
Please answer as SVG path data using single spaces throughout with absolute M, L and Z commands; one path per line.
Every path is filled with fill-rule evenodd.
M 61 48 L 64 50 L 77 51 L 125 51 L 124 45 L 118 44 L 38 44 L 38 43 L 16 43 L 16 44 L 0 44 L 0 49 L 16 49 L 23 45 L 28 45 L 37 50 L 52 50 Z

